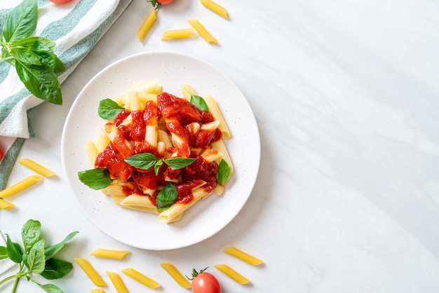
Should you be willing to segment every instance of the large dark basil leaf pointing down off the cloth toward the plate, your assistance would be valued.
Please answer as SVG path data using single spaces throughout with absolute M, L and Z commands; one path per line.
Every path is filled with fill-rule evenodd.
M 53 69 L 42 64 L 15 61 L 15 69 L 22 83 L 36 97 L 53 104 L 62 104 L 61 86 Z

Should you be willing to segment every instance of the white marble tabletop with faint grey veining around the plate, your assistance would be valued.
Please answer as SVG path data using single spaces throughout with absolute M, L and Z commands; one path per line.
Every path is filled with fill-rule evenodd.
M 158 292 L 189 292 L 158 266 L 167 261 L 184 273 L 225 262 L 252 280 L 241 286 L 210 268 L 224 293 L 439 292 L 439 2 L 218 3 L 230 20 L 199 1 L 175 0 L 140 43 L 137 28 L 150 6 L 133 0 L 63 84 L 65 105 L 32 111 L 36 138 L 19 158 L 33 158 L 58 177 L 12 198 L 18 208 L 0 212 L 1 231 L 18 238 L 31 218 L 53 241 L 78 230 L 62 254 L 70 260 L 88 258 L 97 247 L 130 249 L 95 229 L 67 191 L 62 126 L 81 88 L 108 64 L 138 52 L 175 51 L 222 70 L 247 97 L 262 146 L 255 189 L 236 219 L 208 240 L 180 250 L 130 249 L 125 261 L 92 259 L 93 265 L 141 268 L 161 283 Z M 199 37 L 161 41 L 163 31 L 188 27 L 189 18 L 208 27 L 219 45 Z M 10 182 L 30 174 L 15 165 Z M 227 257 L 222 249 L 229 245 L 264 266 Z M 56 284 L 65 292 L 94 287 L 76 264 Z M 28 287 L 34 285 L 22 282 L 19 292 Z M 105 292 L 116 291 L 110 284 Z

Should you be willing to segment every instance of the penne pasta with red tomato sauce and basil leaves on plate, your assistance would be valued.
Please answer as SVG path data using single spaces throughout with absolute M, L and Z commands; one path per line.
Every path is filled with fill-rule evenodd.
M 162 92 L 158 81 L 140 81 L 102 100 L 98 112 L 104 125 L 86 144 L 93 169 L 78 175 L 116 205 L 171 223 L 198 200 L 224 191 L 233 172 L 224 144 L 231 134 L 212 96 L 184 84 L 177 97 Z

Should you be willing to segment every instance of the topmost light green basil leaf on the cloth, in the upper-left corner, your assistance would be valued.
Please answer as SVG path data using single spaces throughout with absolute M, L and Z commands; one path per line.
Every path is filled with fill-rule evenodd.
M 6 15 L 3 25 L 5 40 L 15 41 L 31 36 L 36 29 L 38 4 L 36 0 L 24 0 Z

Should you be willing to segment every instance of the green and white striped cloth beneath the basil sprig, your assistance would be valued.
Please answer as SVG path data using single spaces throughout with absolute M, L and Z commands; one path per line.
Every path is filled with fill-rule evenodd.
M 38 0 L 39 18 L 35 35 L 55 41 L 55 53 L 66 67 L 59 76 L 61 83 L 119 18 L 130 1 L 74 0 L 67 4 L 53 4 L 48 0 Z M 5 16 L 20 2 L 0 0 L 0 29 Z M 14 67 L 6 62 L 0 63 L 0 147 L 4 151 L 4 158 L 0 161 L 0 190 L 6 187 L 25 139 L 34 137 L 27 114 L 41 102 L 43 100 L 31 95 L 23 86 Z

